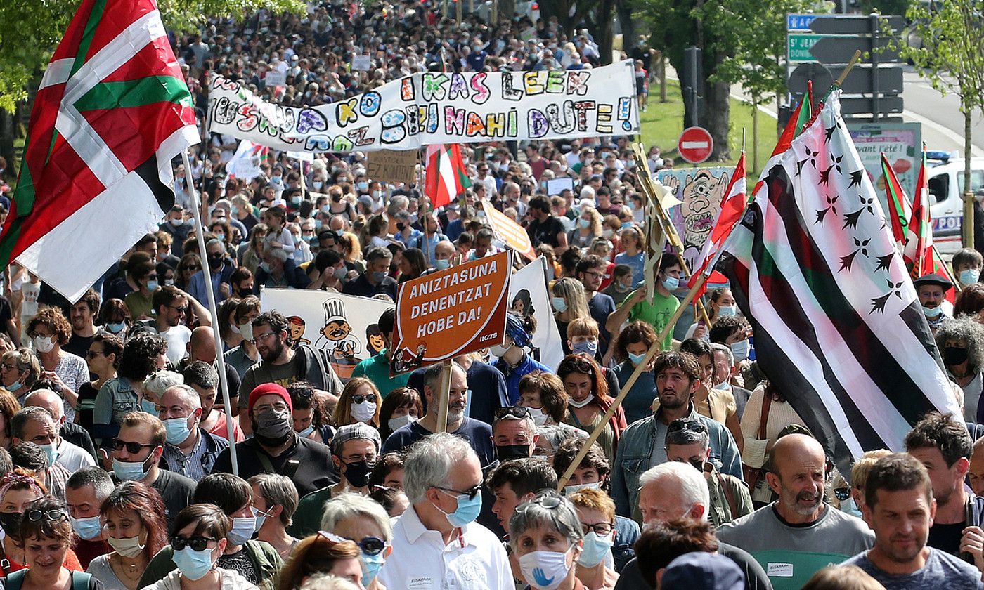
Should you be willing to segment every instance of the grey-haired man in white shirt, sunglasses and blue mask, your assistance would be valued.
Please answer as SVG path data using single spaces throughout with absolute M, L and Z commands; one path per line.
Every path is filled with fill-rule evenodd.
M 436 433 L 413 444 L 403 467 L 410 506 L 393 527 L 393 554 L 379 574 L 388 588 L 513 590 L 499 539 L 474 522 L 482 471 L 468 442 Z

